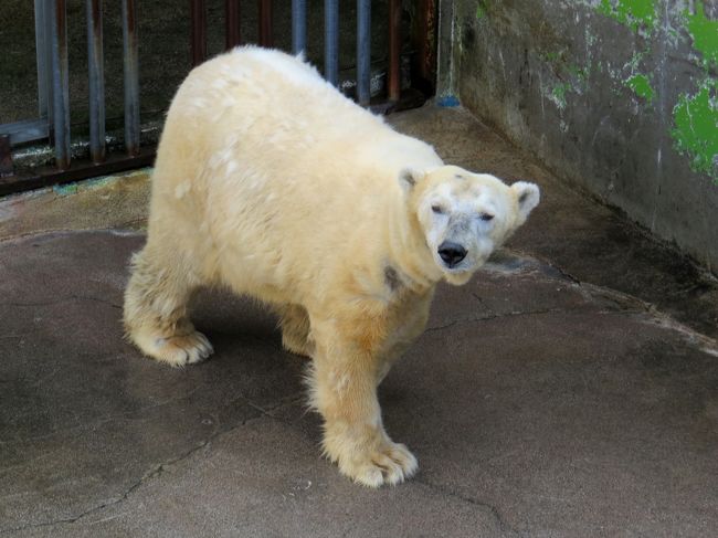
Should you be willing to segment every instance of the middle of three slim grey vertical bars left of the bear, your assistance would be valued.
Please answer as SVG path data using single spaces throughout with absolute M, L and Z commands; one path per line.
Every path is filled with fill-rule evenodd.
M 103 57 L 103 2 L 87 0 L 87 68 L 89 77 L 89 156 L 105 160 L 105 74 Z

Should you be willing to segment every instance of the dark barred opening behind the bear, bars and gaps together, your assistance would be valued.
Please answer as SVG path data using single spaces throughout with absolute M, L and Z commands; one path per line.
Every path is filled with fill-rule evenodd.
M 237 44 L 305 51 L 374 112 L 433 93 L 435 0 L 3 3 L 0 194 L 151 165 L 187 73 Z

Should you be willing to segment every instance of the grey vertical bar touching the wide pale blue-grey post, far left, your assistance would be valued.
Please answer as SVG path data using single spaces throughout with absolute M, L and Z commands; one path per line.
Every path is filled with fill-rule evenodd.
M 70 78 L 67 64 L 67 7 L 65 0 L 50 3 L 52 17 L 53 136 L 55 166 L 70 168 Z

